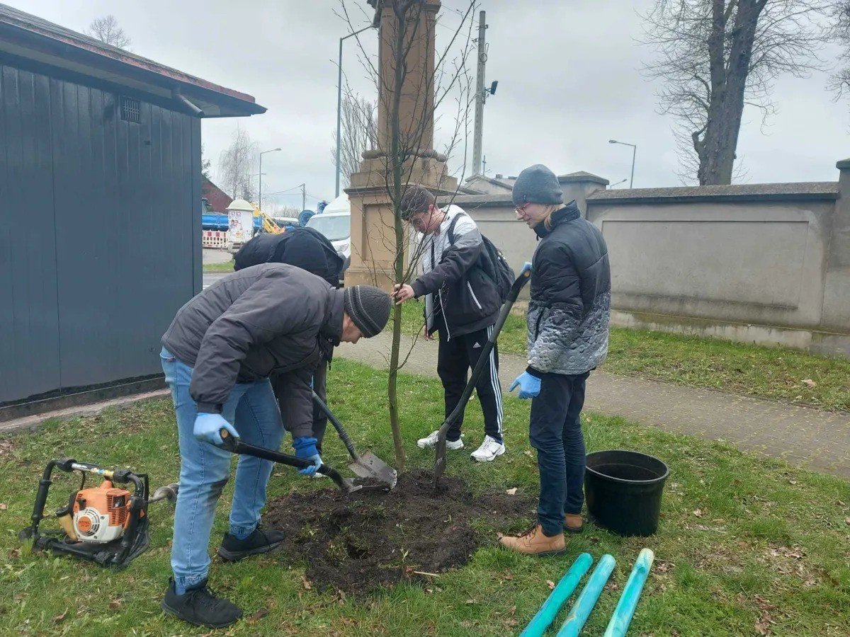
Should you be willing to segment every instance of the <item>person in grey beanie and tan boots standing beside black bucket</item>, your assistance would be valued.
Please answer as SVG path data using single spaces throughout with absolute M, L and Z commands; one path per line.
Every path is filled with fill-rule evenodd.
M 564 531 L 582 528 L 585 443 L 581 408 L 592 369 L 608 354 L 611 271 L 602 233 L 563 204 L 558 178 L 537 164 L 513 186 L 517 217 L 539 238 L 532 260 L 528 367 L 511 391 L 532 398 L 529 437 L 537 449 L 540 502 L 536 524 L 501 538 L 526 555 L 565 549 Z

